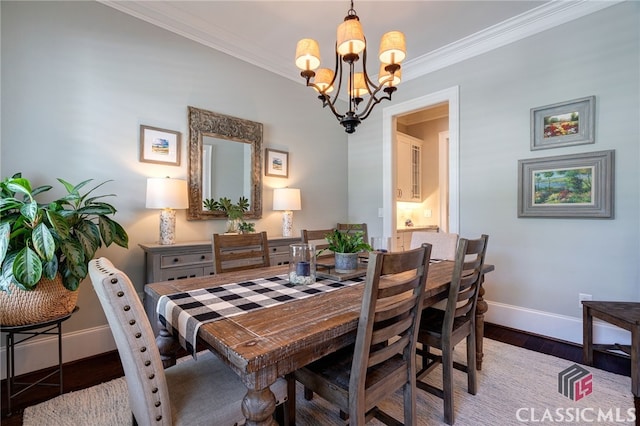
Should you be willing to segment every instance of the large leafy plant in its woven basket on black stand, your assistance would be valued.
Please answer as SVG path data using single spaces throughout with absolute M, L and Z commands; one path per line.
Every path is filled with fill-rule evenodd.
M 116 209 L 84 194 L 92 179 L 73 185 L 58 179 L 62 198 L 40 203 L 52 186 L 33 187 L 20 173 L 0 182 L 0 323 L 24 325 L 71 312 L 87 264 L 102 245 L 127 247 L 124 228 L 109 216 Z

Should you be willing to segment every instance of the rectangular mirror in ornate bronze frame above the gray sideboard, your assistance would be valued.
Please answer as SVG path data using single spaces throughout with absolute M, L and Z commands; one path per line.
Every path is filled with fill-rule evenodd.
M 226 219 L 203 200 L 249 200 L 245 219 L 262 217 L 262 124 L 189 107 L 189 211 L 192 220 Z

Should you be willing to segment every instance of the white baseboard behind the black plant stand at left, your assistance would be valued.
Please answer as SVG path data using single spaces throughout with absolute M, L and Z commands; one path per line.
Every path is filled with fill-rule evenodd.
M 16 339 L 20 336 L 16 335 Z M 116 349 L 108 325 L 88 328 L 62 335 L 62 362 L 71 362 Z M 47 336 L 19 344 L 15 348 L 15 374 L 19 376 L 32 371 L 55 366 L 58 363 L 58 338 Z M 2 371 L 0 377 L 7 378 L 7 348 L 0 351 Z

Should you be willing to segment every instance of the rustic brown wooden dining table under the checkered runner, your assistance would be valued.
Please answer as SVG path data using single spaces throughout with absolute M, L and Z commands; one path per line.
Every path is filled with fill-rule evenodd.
M 447 297 L 453 262 L 429 266 L 424 306 Z M 493 271 L 485 265 L 483 273 Z M 145 306 L 156 306 L 163 295 L 210 288 L 257 278 L 286 274 L 288 265 L 228 272 L 206 277 L 165 281 L 145 286 Z M 204 323 L 198 330 L 198 349 L 209 349 L 224 360 L 247 386 L 242 411 L 246 424 L 275 425 L 276 401 L 269 386 L 278 377 L 294 372 L 355 341 L 364 283 L 257 309 Z M 481 291 L 481 294 L 483 292 Z M 478 307 L 484 301 L 479 300 Z M 486 311 L 486 303 L 484 303 Z M 476 318 L 476 355 L 482 364 L 484 311 Z M 157 321 L 155 312 L 147 312 Z M 177 336 L 159 324 L 157 336 L 165 367 L 175 363 Z

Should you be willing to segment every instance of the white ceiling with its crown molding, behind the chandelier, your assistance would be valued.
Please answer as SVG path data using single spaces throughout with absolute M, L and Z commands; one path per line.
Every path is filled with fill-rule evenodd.
M 350 7 L 345 0 L 98 1 L 301 84 L 296 42 L 318 40 L 322 66 L 333 68 L 336 27 Z M 370 45 L 372 74 L 382 34 L 405 33 L 407 81 L 618 1 L 368 0 L 355 1 L 354 9 Z

